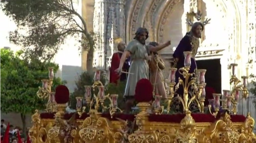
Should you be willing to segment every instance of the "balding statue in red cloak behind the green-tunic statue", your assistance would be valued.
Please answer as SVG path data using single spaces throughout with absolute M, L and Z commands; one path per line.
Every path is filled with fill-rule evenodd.
M 122 57 L 123 51 L 125 49 L 126 45 L 125 42 L 121 41 L 117 45 L 118 52 L 114 53 L 111 59 L 111 67 L 110 67 L 110 83 L 117 84 L 117 81 L 120 79 L 120 81 L 125 81 L 127 79 L 127 74 L 122 73 L 120 76 L 118 73 L 115 72 L 115 69 L 119 67 L 120 59 Z M 130 57 L 126 58 L 124 64 L 123 64 L 123 72 L 128 72 L 130 68 Z

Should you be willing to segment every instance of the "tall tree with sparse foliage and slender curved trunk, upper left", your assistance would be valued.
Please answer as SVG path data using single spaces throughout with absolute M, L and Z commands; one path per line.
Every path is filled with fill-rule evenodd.
M 52 59 L 67 37 L 77 38 L 87 50 L 87 69 L 92 69 L 95 34 L 76 12 L 73 0 L 2 0 L 5 15 L 17 29 L 9 33 L 11 42 L 24 47 L 26 58 Z M 82 26 L 80 25 L 82 23 Z M 25 32 L 24 32 L 25 31 Z

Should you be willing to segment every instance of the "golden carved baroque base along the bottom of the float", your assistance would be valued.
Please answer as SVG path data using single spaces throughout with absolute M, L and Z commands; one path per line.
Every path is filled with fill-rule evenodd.
M 243 123 L 232 122 L 228 113 L 220 115 L 220 119 L 213 123 L 195 123 L 187 112 L 180 123 L 165 123 L 148 121 L 145 111 L 149 104 L 140 103 L 138 107 L 141 112 L 136 115 L 138 130 L 135 132 L 127 132 L 130 129 L 127 128 L 128 121 L 109 121 L 95 111 L 85 120 L 76 120 L 77 127 L 70 131 L 72 140 L 67 143 L 256 143 L 253 133 L 255 121 L 250 114 Z M 41 119 L 36 111 L 29 130 L 31 140 L 36 143 L 65 143 L 61 133 L 67 124 L 65 127 L 66 120 L 58 115 L 55 119 Z M 68 123 L 72 125 L 70 120 Z

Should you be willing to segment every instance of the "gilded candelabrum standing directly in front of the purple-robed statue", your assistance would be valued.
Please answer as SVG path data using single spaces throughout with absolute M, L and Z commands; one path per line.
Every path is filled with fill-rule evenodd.
M 175 73 L 177 71 L 177 68 L 170 68 L 170 74 L 168 79 L 169 95 L 167 96 L 167 111 L 169 111 L 174 93 L 176 93 L 179 86 L 181 85 L 183 87 L 183 95 L 178 95 L 176 98 L 178 98 L 179 101 L 182 103 L 184 112 L 187 113 L 189 111 L 189 106 L 193 101 L 196 102 L 197 106 L 200 109 L 200 112 L 204 112 L 206 70 L 197 69 L 195 73 L 189 73 L 189 69 L 191 66 L 191 54 L 192 52 L 184 52 L 184 67 L 178 70 L 178 72 L 183 76 L 184 79 L 179 78 L 177 84 L 175 83 Z

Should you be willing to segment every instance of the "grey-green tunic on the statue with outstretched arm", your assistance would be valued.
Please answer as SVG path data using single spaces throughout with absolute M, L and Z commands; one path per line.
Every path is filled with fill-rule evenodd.
M 148 46 L 141 44 L 138 40 L 134 39 L 129 42 L 124 51 L 130 51 L 131 53 L 131 66 L 129 68 L 129 74 L 127 77 L 124 96 L 134 96 L 135 87 L 140 79 L 149 79 L 149 67 L 148 67 Z

